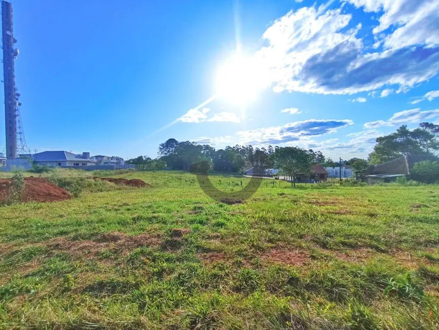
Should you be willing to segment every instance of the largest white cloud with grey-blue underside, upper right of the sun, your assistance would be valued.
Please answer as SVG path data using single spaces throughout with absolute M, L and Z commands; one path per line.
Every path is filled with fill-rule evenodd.
M 419 0 L 425 6 L 412 6 L 412 2 L 418 1 L 350 0 L 358 7 L 366 6 L 368 11 L 380 12 L 383 8 L 382 16 L 386 17 L 392 16 L 395 8 L 403 11 L 404 15 L 415 15 L 402 5 L 398 7 L 393 3 L 404 3 L 406 7 L 416 7 L 416 13 L 424 13 L 431 1 Z M 269 70 L 274 91 L 353 94 L 376 90 L 384 85 L 399 85 L 401 90 L 407 90 L 439 72 L 439 48 L 432 48 L 436 44 L 435 25 L 439 25 L 439 19 L 417 23 L 425 25 L 423 31 L 429 25 L 432 27 L 431 38 L 423 35 L 412 38 L 410 42 L 404 41 L 405 46 L 394 47 L 393 39 L 384 34 L 382 38 L 387 38 L 386 50 L 369 53 L 370 48 L 364 47 L 363 40 L 357 37 L 361 24 L 347 29 L 352 21 L 351 14 L 343 14 L 341 8 L 325 9 L 303 7 L 291 11 L 264 32 L 263 38 L 268 41 L 268 46 L 260 49 L 255 56 Z M 401 15 L 402 12 L 398 17 Z M 407 22 L 405 18 L 382 18 L 382 27 L 391 21 L 393 23 L 390 24 Z M 414 17 L 410 19 L 415 20 Z M 415 34 L 418 29 L 410 33 Z M 378 41 L 380 38 L 381 34 Z

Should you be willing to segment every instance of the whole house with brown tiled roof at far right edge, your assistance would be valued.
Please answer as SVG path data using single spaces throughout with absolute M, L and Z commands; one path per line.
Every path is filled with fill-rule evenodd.
M 395 181 L 397 177 L 401 176 L 419 180 L 420 178 L 412 173 L 414 164 L 424 160 L 436 161 L 438 159 L 432 155 L 406 155 L 382 164 L 370 165 L 364 176 L 369 184 Z

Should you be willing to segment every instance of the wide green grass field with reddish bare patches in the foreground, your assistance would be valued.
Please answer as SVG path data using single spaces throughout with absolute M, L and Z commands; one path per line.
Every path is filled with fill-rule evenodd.
M 0 328 L 439 327 L 437 185 L 118 176 L 153 187 L 0 208 Z

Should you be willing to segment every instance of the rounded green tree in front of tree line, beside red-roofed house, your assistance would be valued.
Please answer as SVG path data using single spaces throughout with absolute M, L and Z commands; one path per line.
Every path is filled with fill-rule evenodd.
M 294 187 L 297 174 L 308 174 L 315 161 L 314 152 L 298 147 L 280 147 L 276 149 L 276 167 L 279 171 L 290 176 Z

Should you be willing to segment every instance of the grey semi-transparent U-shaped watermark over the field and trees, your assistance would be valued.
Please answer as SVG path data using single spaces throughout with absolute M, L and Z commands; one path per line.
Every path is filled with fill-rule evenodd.
M 211 199 L 225 203 L 225 204 L 239 204 L 251 197 L 262 183 L 264 170 L 254 167 L 251 172 L 252 175 L 247 176 L 250 178 L 247 184 L 243 184 L 243 180 L 237 185 L 233 182 L 232 191 L 223 191 L 218 189 L 211 181 L 209 177 L 210 164 L 208 161 L 200 161 L 192 164 L 190 171 L 196 173 L 198 184 L 204 193 L 206 193 Z M 247 180 L 245 180 L 247 181 Z M 230 182 L 229 182 L 230 184 Z M 226 188 L 229 186 L 225 185 Z M 237 189 L 236 191 L 234 191 Z

